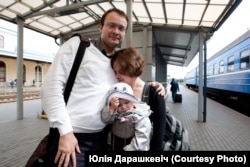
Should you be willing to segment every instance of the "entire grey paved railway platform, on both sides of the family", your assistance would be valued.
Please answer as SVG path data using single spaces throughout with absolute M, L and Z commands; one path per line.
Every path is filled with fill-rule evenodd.
M 168 92 L 169 87 L 168 87 Z M 250 118 L 207 99 L 206 122 L 198 122 L 198 96 L 180 85 L 182 103 L 173 103 L 168 93 L 170 114 L 181 120 L 189 132 L 193 151 L 249 151 Z M 48 133 L 48 121 L 39 119 L 40 99 L 24 102 L 24 118 L 16 120 L 16 103 L 0 104 L 0 166 L 22 167 Z

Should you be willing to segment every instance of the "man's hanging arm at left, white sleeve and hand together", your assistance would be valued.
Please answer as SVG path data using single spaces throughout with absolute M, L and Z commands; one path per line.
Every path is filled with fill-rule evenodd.
M 43 82 L 41 91 L 42 105 L 48 116 L 50 127 L 57 128 L 60 133 L 57 155 L 55 157 L 55 162 L 59 166 L 68 166 L 71 159 L 73 166 L 76 167 L 75 151 L 80 152 L 63 96 L 63 90 L 79 42 L 80 39 L 78 37 L 71 38 L 59 48 Z

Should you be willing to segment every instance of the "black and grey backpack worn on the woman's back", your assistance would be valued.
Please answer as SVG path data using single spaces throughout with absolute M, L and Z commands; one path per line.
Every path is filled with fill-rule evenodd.
M 150 85 L 146 84 L 142 101 L 147 102 L 150 95 Z M 163 143 L 163 151 L 187 151 L 190 150 L 188 131 L 182 126 L 181 121 L 173 115 L 166 113 L 166 126 Z

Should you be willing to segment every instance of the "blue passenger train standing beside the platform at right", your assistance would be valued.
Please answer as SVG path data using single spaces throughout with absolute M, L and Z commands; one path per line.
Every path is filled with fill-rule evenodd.
M 236 105 L 250 105 L 250 30 L 207 60 L 206 92 Z M 185 76 L 185 85 L 198 90 L 199 68 Z

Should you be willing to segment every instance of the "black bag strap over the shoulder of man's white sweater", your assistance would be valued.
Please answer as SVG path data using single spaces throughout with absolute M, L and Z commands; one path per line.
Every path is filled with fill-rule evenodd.
M 66 87 L 65 87 L 65 90 L 64 90 L 64 101 L 65 101 L 65 103 L 68 102 L 69 95 L 70 95 L 70 92 L 71 92 L 72 87 L 74 85 L 76 74 L 77 74 L 79 66 L 80 66 L 80 64 L 82 62 L 82 58 L 84 56 L 86 47 L 88 47 L 90 45 L 89 39 L 87 37 L 85 37 L 85 36 L 83 36 L 81 34 L 75 34 L 73 36 L 79 36 L 80 39 L 81 39 L 81 42 L 79 44 L 79 47 L 78 47 L 78 50 L 77 50 L 77 53 L 76 53 L 76 57 L 75 57 L 73 65 L 72 65 L 71 71 L 69 73 L 69 78 L 68 78 L 68 81 L 67 81 L 67 84 L 66 84 Z

